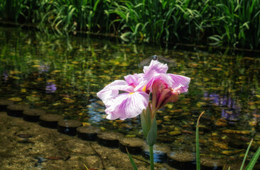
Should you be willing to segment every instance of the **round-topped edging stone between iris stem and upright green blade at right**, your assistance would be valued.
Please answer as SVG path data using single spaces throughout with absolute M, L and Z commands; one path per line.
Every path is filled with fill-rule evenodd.
M 168 165 L 175 169 L 196 169 L 196 157 L 192 152 L 174 151 L 168 154 Z

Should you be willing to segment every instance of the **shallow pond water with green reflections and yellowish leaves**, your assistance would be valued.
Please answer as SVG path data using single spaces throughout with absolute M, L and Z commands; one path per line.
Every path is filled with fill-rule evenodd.
M 188 93 L 156 115 L 158 143 L 195 151 L 195 123 L 202 111 L 202 155 L 241 162 L 251 138 L 260 145 L 260 59 L 210 54 L 97 38 L 0 28 L 0 96 L 67 119 L 142 137 L 140 120 L 107 120 L 96 94 L 115 79 L 143 72 L 151 55 L 173 57 L 169 73 L 191 77 Z M 251 156 L 251 154 L 250 154 Z

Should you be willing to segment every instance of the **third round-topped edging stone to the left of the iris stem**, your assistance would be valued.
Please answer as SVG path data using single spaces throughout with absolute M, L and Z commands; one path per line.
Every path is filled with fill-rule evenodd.
M 77 137 L 82 140 L 97 140 L 97 134 L 101 132 L 100 128 L 95 126 L 80 126 L 77 129 Z

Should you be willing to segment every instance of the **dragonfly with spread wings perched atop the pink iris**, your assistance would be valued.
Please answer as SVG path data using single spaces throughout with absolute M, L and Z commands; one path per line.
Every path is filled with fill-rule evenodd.
M 148 57 L 141 61 L 138 64 L 138 67 L 144 67 L 150 64 L 151 60 L 158 60 L 158 62 L 162 62 L 164 64 L 167 64 L 169 67 L 176 67 L 177 64 L 174 59 L 168 58 L 168 57 L 163 57 L 161 55 L 152 55 L 151 57 Z

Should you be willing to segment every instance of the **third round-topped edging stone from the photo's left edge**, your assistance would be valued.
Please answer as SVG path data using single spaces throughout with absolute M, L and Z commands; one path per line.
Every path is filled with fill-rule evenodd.
M 23 120 L 28 122 L 38 122 L 40 115 L 45 115 L 46 112 L 40 109 L 26 109 L 23 111 Z

